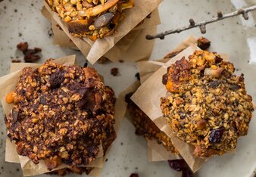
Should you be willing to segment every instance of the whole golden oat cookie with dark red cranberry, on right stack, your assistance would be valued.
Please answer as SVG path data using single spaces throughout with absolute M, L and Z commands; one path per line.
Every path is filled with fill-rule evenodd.
M 167 69 L 168 91 L 161 109 L 174 134 L 195 146 L 195 157 L 211 157 L 236 148 L 246 135 L 254 110 L 244 76 L 219 54 L 195 51 Z

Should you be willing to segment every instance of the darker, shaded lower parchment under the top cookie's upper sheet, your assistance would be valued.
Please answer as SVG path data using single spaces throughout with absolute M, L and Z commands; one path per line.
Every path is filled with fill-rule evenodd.
M 55 45 L 60 45 L 61 47 L 73 48 L 79 50 L 76 45 L 70 40 L 69 36 L 64 33 L 58 23 L 52 18 L 51 14 L 45 6 L 42 7 L 42 15 L 44 15 L 48 20 L 52 21 L 52 31 L 53 31 L 53 43 Z M 142 22 L 134 28 L 130 33 L 120 39 L 113 48 L 111 48 L 104 57 L 108 57 L 109 60 L 117 62 L 123 61 L 141 61 L 147 60 L 151 54 L 154 47 L 155 40 L 146 40 L 145 36 L 149 33 L 156 33 L 157 25 L 161 23 L 158 9 L 151 12 L 150 17 L 146 17 Z M 145 42 L 147 45 L 145 45 Z M 138 48 L 137 46 L 144 46 L 143 48 Z M 87 42 L 83 45 L 84 53 L 89 53 L 91 45 Z M 132 55 L 133 54 L 133 55 Z

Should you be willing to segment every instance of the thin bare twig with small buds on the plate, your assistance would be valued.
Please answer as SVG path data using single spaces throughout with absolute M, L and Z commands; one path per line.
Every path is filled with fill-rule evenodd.
M 184 26 L 184 27 L 178 28 L 178 29 L 171 29 L 171 30 L 165 31 L 164 33 L 156 34 L 155 36 L 147 35 L 146 39 L 148 39 L 148 40 L 155 39 L 155 38 L 164 39 L 164 36 L 167 36 L 167 35 L 170 35 L 170 34 L 173 34 L 173 33 L 180 33 L 182 31 L 185 31 L 187 29 L 192 29 L 192 28 L 195 28 L 195 27 L 199 27 L 200 30 L 201 30 L 201 33 L 204 34 L 204 33 L 206 33 L 206 27 L 205 26 L 208 23 L 214 23 L 216 21 L 223 20 L 223 19 L 229 18 L 229 17 L 238 16 L 240 14 L 242 14 L 242 17 L 244 17 L 245 20 L 248 20 L 248 12 L 249 11 L 254 11 L 254 10 L 256 10 L 256 5 L 253 5 L 253 6 L 248 7 L 248 8 L 242 8 L 242 9 L 239 9 L 238 11 L 233 11 L 229 14 L 222 14 L 221 11 L 218 11 L 216 17 L 213 17 L 211 20 L 201 21 L 200 23 L 195 23 L 195 21 L 191 18 L 191 19 L 189 19 L 189 23 L 190 23 L 189 26 Z

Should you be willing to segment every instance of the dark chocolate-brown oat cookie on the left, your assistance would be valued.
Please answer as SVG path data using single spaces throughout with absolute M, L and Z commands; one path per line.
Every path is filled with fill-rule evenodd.
M 53 60 L 25 67 L 6 100 L 13 103 L 5 123 L 17 153 L 34 163 L 44 160 L 48 169 L 88 165 L 99 146 L 106 150 L 116 138 L 114 92 L 92 68 Z

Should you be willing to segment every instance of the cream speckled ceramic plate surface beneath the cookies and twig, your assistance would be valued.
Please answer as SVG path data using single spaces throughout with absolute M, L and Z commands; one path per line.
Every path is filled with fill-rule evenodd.
M 195 21 L 211 18 L 218 10 L 234 11 L 236 8 L 256 4 L 255 0 L 165 0 L 159 7 L 162 25 L 158 31 L 176 28 L 188 24 L 189 18 Z M 50 23 L 42 17 L 42 1 L 0 0 L 0 75 L 8 73 L 11 58 L 23 57 L 16 50 L 18 42 L 27 41 L 31 47 L 42 48 L 42 59 L 77 54 L 78 64 L 83 65 L 86 59 L 78 51 L 59 48 L 52 45 L 48 35 Z M 248 93 L 256 100 L 256 12 L 249 14 L 249 20 L 233 17 L 207 26 L 205 36 L 212 41 L 211 50 L 226 53 L 238 73 L 245 73 Z M 157 40 L 151 60 L 156 60 L 190 34 L 201 36 L 199 29 L 167 36 L 164 41 Z M 98 72 L 105 76 L 105 83 L 114 88 L 116 94 L 126 89 L 136 80 L 136 64 L 95 64 Z M 111 76 L 112 67 L 118 67 L 119 76 Z M 255 115 L 255 113 L 254 113 Z M 22 176 L 19 165 L 5 163 L 5 125 L 1 107 L 0 133 L 0 176 Z M 239 139 L 236 154 L 225 154 L 208 161 L 195 176 L 251 176 L 256 167 L 256 120 L 251 120 L 248 136 Z M 180 172 L 170 169 L 167 162 L 148 163 L 145 140 L 134 134 L 131 123 L 123 119 L 117 140 L 111 149 L 110 157 L 101 176 L 129 176 L 138 172 L 140 177 L 181 176 Z M 48 175 L 41 175 L 48 176 Z M 72 175 L 73 176 L 73 175 Z

